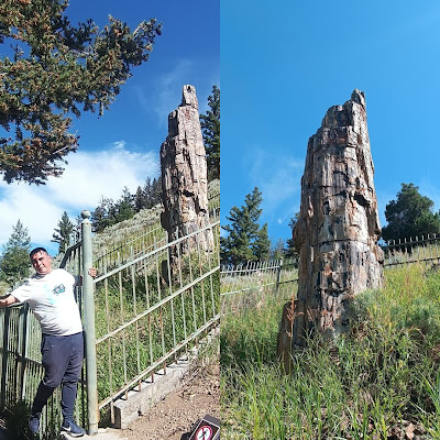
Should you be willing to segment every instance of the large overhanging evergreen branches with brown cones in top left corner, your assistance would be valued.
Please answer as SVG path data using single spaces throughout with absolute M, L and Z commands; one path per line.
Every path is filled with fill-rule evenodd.
M 72 116 L 102 114 L 132 75 L 148 59 L 162 24 L 142 22 L 134 32 L 109 18 L 70 24 L 66 0 L 2 0 L 0 44 L 13 47 L 0 59 L 0 173 L 42 184 L 59 176 L 64 157 L 77 148 Z

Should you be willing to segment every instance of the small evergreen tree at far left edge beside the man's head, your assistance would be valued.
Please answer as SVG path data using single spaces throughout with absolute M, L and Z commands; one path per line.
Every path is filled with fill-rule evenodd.
M 0 260 L 1 277 L 11 287 L 29 276 L 31 263 L 29 252 L 31 238 L 28 228 L 19 220 L 12 229 L 12 234 L 3 246 L 3 255 Z

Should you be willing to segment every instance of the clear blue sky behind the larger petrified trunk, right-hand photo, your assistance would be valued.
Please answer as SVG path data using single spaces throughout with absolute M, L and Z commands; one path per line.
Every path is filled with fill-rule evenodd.
M 365 92 L 381 223 L 402 183 L 440 209 L 440 3 L 221 0 L 221 218 L 257 186 L 290 237 L 309 136 Z

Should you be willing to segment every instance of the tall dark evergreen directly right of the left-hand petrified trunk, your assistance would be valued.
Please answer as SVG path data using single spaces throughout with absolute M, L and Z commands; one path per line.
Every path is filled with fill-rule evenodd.
M 200 116 L 200 125 L 207 153 L 208 180 L 220 178 L 220 89 L 212 86 L 208 97 L 206 114 Z

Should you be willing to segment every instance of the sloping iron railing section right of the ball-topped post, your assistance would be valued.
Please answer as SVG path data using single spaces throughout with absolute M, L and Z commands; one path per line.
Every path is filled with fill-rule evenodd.
M 215 243 L 204 249 L 204 235 Z M 114 270 L 96 285 L 99 408 L 125 398 L 201 334 L 219 324 L 220 222 L 187 234 Z M 190 243 L 190 244 L 189 244 Z M 170 260 L 170 249 L 190 249 Z

